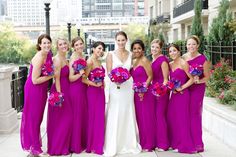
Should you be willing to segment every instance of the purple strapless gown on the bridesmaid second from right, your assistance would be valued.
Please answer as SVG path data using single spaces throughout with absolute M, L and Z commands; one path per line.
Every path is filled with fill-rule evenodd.
M 180 68 L 171 71 L 170 78 L 179 80 L 181 84 L 188 80 L 185 71 Z M 171 93 L 168 105 L 167 123 L 170 147 L 178 149 L 180 153 L 196 152 L 190 134 L 189 98 L 188 89 L 184 89 L 181 93 Z

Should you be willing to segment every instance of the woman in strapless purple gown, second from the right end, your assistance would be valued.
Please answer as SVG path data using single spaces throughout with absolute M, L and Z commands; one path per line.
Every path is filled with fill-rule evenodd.
M 168 48 L 170 58 L 170 79 L 180 82 L 180 87 L 172 93 L 168 105 L 167 121 L 169 126 L 170 146 L 176 152 L 196 153 L 190 134 L 188 87 L 193 83 L 189 65 L 181 58 L 180 49 L 171 44 Z

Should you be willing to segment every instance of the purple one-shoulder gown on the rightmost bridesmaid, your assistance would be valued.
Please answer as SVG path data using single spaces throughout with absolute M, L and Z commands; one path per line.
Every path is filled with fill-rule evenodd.
M 189 65 L 203 65 L 207 61 L 204 55 L 199 55 L 192 60 L 189 60 Z M 200 76 L 200 79 L 203 74 Z M 202 141 L 202 106 L 205 93 L 205 83 L 193 84 L 189 88 L 190 92 L 190 126 L 194 145 L 198 152 L 204 151 Z

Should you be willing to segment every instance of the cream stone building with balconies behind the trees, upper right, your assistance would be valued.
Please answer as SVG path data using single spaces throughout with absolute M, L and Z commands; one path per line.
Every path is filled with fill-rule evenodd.
M 218 14 L 221 0 L 202 0 L 202 26 L 207 35 L 212 20 Z M 236 1 L 230 0 L 230 9 L 236 18 Z M 151 25 L 156 25 L 167 42 L 185 40 L 191 31 L 194 0 L 149 0 L 148 14 Z

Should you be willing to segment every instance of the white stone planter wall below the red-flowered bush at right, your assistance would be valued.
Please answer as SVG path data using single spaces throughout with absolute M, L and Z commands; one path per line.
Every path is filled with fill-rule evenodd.
M 204 97 L 203 128 L 236 150 L 236 111 L 215 98 Z

